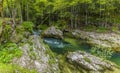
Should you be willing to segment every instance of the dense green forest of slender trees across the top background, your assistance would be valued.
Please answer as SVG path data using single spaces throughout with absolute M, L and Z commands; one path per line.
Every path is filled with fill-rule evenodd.
M 119 0 L 4 0 L 3 10 L 4 16 L 10 17 L 11 12 L 17 9 L 16 17 L 24 21 L 31 20 L 37 25 L 60 22 L 52 25 L 77 28 L 76 25 L 84 26 L 86 22 L 92 23 L 87 25 L 97 26 L 102 26 L 99 23 L 104 21 L 120 23 L 119 5 Z M 31 28 L 28 30 L 31 31 Z

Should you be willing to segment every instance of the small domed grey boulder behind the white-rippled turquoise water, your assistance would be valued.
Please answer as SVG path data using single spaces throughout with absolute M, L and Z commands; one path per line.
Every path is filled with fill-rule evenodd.
M 63 32 L 59 29 L 56 29 L 54 26 L 49 27 L 44 31 L 43 37 L 53 37 L 53 38 L 63 38 Z

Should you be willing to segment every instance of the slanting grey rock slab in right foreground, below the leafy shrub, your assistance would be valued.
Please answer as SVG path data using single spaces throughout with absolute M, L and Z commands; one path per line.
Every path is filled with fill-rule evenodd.
M 92 72 L 101 72 L 105 70 L 114 70 L 116 67 L 114 64 L 108 61 L 104 61 L 96 56 L 88 54 L 86 52 L 77 51 L 71 52 L 67 55 L 67 58 L 70 63 L 75 64 L 81 68 L 84 68 L 86 71 Z

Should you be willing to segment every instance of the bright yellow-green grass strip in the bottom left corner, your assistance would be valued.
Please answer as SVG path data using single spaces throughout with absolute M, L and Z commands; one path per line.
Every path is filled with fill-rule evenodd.
M 0 73 L 38 73 L 35 70 L 28 70 L 18 65 L 0 63 Z

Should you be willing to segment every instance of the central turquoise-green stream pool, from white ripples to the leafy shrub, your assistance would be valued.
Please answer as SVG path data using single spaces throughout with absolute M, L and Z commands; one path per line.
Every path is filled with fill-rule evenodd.
M 44 42 L 47 43 L 51 47 L 51 50 L 57 54 L 63 54 L 68 51 L 76 50 L 90 51 L 90 46 L 85 43 L 80 44 L 79 46 L 73 46 L 68 42 L 54 38 L 44 38 Z

